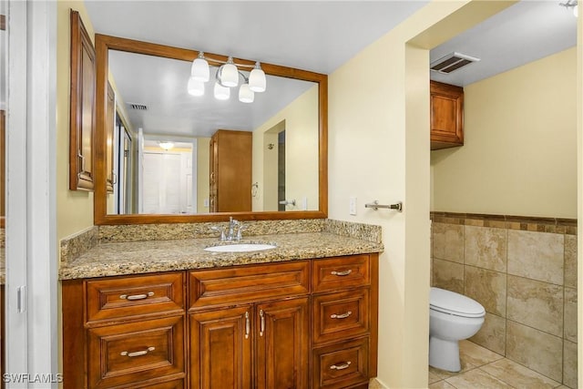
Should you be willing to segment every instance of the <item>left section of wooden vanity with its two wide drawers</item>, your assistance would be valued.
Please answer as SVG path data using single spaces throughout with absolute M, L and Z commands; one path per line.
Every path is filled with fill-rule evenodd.
M 184 288 L 183 272 L 63 282 L 64 387 L 186 387 Z

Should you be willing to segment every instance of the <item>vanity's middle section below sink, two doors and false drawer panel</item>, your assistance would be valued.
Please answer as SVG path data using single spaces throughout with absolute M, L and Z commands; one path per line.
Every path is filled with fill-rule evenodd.
M 309 294 L 310 261 L 190 271 L 190 388 L 308 388 Z

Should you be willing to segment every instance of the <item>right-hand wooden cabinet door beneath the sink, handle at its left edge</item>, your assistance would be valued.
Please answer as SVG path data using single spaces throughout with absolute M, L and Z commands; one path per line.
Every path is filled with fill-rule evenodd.
M 257 388 L 308 386 L 308 298 L 267 302 L 256 307 Z

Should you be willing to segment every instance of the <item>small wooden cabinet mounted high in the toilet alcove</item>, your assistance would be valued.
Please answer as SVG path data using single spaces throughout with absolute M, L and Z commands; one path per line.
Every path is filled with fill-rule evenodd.
M 464 145 L 464 88 L 431 81 L 431 149 Z

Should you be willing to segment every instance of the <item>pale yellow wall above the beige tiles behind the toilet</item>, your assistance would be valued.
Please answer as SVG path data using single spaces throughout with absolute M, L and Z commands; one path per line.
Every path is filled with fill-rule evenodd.
M 577 218 L 577 50 L 465 87 L 465 144 L 435 150 L 432 210 Z

